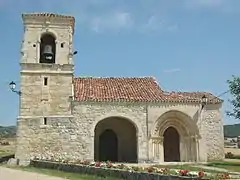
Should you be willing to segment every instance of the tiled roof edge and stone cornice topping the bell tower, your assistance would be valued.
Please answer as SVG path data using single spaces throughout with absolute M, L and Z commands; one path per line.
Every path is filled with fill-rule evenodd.
M 73 32 L 75 27 L 75 18 L 70 15 L 56 14 L 56 13 L 23 13 L 22 20 L 24 24 L 43 24 L 46 22 L 53 24 L 70 25 Z

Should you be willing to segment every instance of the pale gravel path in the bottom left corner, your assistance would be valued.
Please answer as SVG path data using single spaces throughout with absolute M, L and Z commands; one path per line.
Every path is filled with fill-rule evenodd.
M 34 172 L 26 172 L 10 168 L 0 167 L 1 180 L 66 180 L 64 178 L 52 177 Z

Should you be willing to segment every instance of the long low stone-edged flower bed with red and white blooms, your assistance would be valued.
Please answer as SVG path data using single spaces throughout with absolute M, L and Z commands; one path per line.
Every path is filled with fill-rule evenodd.
M 143 168 L 138 166 L 126 166 L 124 164 L 112 164 L 111 162 L 52 162 L 34 159 L 31 161 L 31 166 L 101 177 L 115 177 L 125 180 L 197 180 L 204 178 L 204 172 L 202 171 L 196 175 L 191 175 L 188 170 L 180 170 L 177 172 L 154 166 Z

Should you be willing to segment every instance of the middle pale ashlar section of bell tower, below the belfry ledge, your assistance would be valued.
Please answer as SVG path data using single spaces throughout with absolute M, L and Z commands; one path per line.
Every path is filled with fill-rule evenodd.
M 71 114 L 72 74 L 22 73 L 21 92 L 20 116 Z

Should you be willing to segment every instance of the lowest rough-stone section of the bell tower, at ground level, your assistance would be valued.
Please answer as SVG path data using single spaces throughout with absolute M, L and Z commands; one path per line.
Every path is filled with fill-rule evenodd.
M 73 117 L 48 117 L 18 120 L 16 158 L 32 157 L 79 159 L 88 151 L 87 142 Z

